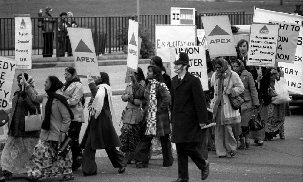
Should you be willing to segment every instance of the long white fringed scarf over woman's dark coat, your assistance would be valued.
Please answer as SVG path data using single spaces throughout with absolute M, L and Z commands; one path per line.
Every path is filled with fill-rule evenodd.
M 94 116 L 95 119 L 98 118 L 98 116 L 101 113 L 103 104 L 104 104 L 104 97 L 105 97 L 105 89 L 107 91 L 107 95 L 108 95 L 108 103 L 109 103 L 109 110 L 111 111 L 111 115 L 112 115 L 112 122 L 113 122 L 113 126 L 117 132 L 118 135 L 120 135 L 120 129 L 118 126 L 118 121 L 116 118 L 116 113 L 115 113 L 115 109 L 113 106 L 113 102 L 112 102 L 112 89 L 109 85 L 107 84 L 100 84 L 97 85 L 98 91 L 97 94 L 92 102 L 92 105 L 90 105 L 88 107 L 88 111 L 91 113 L 91 116 Z

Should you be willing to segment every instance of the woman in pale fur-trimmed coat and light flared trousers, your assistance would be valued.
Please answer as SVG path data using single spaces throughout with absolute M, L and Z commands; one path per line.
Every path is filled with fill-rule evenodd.
M 215 95 L 211 100 L 211 108 L 216 122 L 216 153 L 222 158 L 227 157 L 230 151 L 232 157 L 237 152 L 232 126 L 241 122 L 241 116 L 239 110 L 232 108 L 228 95 L 238 96 L 244 91 L 244 86 L 239 75 L 231 70 L 225 59 L 216 59 L 214 63 L 216 72 L 211 77 L 211 86 L 214 86 Z

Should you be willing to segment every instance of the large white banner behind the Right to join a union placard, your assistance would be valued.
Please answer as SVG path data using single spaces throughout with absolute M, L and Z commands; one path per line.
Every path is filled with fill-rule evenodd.
M 288 13 L 274 12 L 264 9 L 255 9 L 254 22 L 268 23 L 269 21 L 280 21 L 294 23 L 300 26 L 297 49 L 294 63 L 279 62 L 284 71 L 284 77 L 288 80 L 289 91 L 303 95 L 303 16 Z

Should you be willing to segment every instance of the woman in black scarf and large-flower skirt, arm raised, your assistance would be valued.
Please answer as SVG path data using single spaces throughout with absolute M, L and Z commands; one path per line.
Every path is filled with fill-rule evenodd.
M 64 175 L 60 181 L 73 180 L 72 152 L 65 157 L 58 156 L 57 145 L 59 135 L 61 142 L 67 136 L 68 127 L 74 119 L 66 99 L 60 93 L 63 83 L 56 76 L 48 76 L 44 83 L 45 93 L 36 94 L 23 79 L 28 97 L 36 103 L 42 103 L 42 125 L 40 140 L 35 146 L 32 157 L 26 166 L 28 181 L 41 181 L 42 177 L 57 177 Z

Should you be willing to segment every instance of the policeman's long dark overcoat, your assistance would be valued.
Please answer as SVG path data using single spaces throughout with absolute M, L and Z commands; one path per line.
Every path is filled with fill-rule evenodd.
M 207 123 L 206 100 L 199 78 L 189 72 L 178 83 L 178 75 L 171 82 L 172 142 L 199 142 L 200 123 Z

